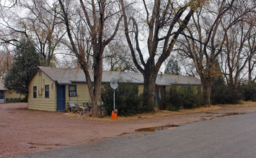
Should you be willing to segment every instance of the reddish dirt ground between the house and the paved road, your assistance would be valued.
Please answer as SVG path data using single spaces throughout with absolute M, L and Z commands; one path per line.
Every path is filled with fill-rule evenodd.
M 112 138 L 135 129 L 193 121 L 215 119 L 236 113 L 256 112 L 256 102 L 250 106 L 220 106 L 209 111 L 139 117 L 128 121 L 92 120 L 63 112 L 28 110 L 27 103 L 0 104 L 0 157 L 40 152 Z

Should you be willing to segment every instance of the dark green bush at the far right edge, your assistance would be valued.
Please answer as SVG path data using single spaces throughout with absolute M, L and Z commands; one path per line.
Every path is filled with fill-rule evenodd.
M 256 101 L 256 83 L 243 84 L 239 90 L 242 92 L 244 101 Z

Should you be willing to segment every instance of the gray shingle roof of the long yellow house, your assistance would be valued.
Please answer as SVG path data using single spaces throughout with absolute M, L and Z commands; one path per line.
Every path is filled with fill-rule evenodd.
M 38 67 L 46 75 L 48 75 L 51 80 L 57 82 L 58 84 L 71 84 L 71 83 L 86 83 L 85 75 L 81 69 L 71 69 L 71 68 L 49 68 L 49 67 Z M 91 79 L 92 70 L 89 71 Z M 118 71 L 103 71 L 102 72 L 102 82 L 108 83 L 112 79 L 118 80 L 118 82 L 130 82 L 143 84 L 144 78 L 141 73 L 129 73 L 129 72 L 118 72 Z M 193 76 L 185 75 L 157 75 L 156 85 L 201 85 L 200 79 Z

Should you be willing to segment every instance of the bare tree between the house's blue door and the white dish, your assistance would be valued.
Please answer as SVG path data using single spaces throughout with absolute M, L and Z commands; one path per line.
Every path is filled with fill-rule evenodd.
M 79 5 L 77 5 L 79 3 Z M 122 16 L 118 1 L 62 1 L 59 0 L 71 50 L 84 71 L 89 95 L 92 99 L 92 116 L 102 116 L 102 60 L 105 47 L 114 40 Z M 72 8 L 72 5 L 74 7 Z M 77 15 L 77 16 L 76 16 Z M 74 16 L 74 17 L 72 17 Z M 90 48 L 92 47 L 92 51 Z M 89 55 L 93 57 L 94 85 L 90 78 Z

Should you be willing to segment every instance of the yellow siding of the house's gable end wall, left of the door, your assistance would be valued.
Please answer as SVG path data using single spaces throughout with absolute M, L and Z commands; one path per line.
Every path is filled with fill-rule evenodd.
M 43 111 L 57 111 L 56 83 L 45 73 L 37 70 L 30 80 L 28 93 L 28 108 Z M 49 97 L 45 98 L 45 85 L 49 85 Z M 33 98 L 33 87 L 37 86 L 37 98 Z

